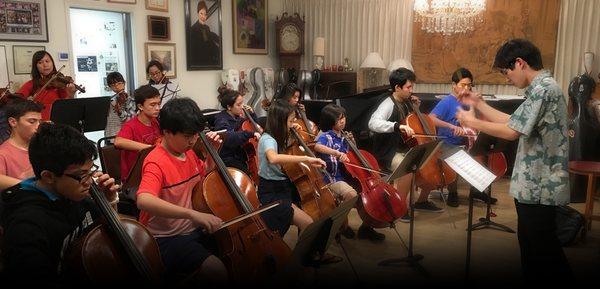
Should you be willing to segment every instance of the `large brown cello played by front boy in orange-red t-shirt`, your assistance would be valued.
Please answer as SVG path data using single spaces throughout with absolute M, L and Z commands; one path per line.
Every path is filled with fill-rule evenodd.
M 210 212 L 223 221 L 252 213 L 259 204 L 254 183 L 244 172 L 225 166 L 204 132 L 200 133 L 200 140 L 216 168 L 194 187 L 193 208 Z M 214 236 L 231 279 L 240 283 L 264 280 L 280 271 L 291 258 L 290 248 L 260 216 L 222 228 Z

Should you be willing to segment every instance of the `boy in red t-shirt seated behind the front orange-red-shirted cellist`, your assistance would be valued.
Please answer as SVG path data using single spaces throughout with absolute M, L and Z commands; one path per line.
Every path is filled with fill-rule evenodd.
M 136 117 L 123 124 L 115 138 L 115 147 L 121 149 L 121 181 L 125 182 L 135 164 L 138 152 L 153 146 L 160 137 L 156 118 L 160 112 L 160 93 L 151 85 L 142 85 L 134 92 L 139 110 Z

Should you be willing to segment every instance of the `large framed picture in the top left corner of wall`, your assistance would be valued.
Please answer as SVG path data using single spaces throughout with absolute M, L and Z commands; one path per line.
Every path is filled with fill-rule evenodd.
M 0 40 L 48 42 L 46 0 L 0 0 Z

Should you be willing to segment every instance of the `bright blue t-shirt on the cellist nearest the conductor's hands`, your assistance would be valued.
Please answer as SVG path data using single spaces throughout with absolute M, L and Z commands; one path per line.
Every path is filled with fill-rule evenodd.
M 460 123 L 456 119 L 456 112 L 458 111 L 459 107 L 462 107 L 464 110 L 469 109 L 469 106 L 458 102 L 456 96 L 448 94 L 435 105 L 431 113 L 435 114 L 440 120 L 460 126 Z M 444 142 L 448 144 L 462 145 L 465 143 L 465 137 L 455 136 L 452 130 L 447 127 L 437 127 L 437 135 L 445 136 L 446 138 L 444 139 Z

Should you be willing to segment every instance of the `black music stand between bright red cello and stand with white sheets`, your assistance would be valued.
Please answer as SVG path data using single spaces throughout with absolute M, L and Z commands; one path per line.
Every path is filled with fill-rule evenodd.
M 442 141 L 441 140 L 435 140 L 429 143 L 425 143 L 422 145 L 418 145 L 415 147 L 412 147 L 408 153 L 406 153 L 406 155 L 404 156 L 404 159 L 402 160 L 402 162 L 400 163 L 400 165 L 398 165 L 398 167 L 394 170 L 394 172 L 388 177 L 387 181 L 391 182 L 403 175 L 412 173 L 412 180 L 411 180 L 411 184 L 410 184 L 410 192 L 408 194 L 408 203 L 410 205 L 409 208 L 410 209 L 410 226 L 409 226 L 409 233 L 408 233 L 408 252 L 407 252 L 407 256 L 403 257 L 403 258 L 392 258 L 392 259 L 387 259 L 387 260 L 383 260 L 381 262 L 379 262 L 379 266 L 399 266 L 402 263 L 406 263 L 406 265 L 413 267 L 415 269 L 417 269 L 419 272 L 423 273 L 425 276 L 428 276 L 429 274 L 427 273 L 427 271 L 425 270 L 425 268 L 423 268 L 423 266 L 421 266 L 421 264 L 419 264 L 419 261 L 421 261 L 424 257 L 423 255 L 420 254 L 413 254 L 413 234 L 414 234 L 414 224 L 415 224 L 415 210 L 412 209 L 412 203 L 413 203 L 413 194 L 415 191 L 415 176 L 417 174 L 417 171 L 419 169 L 421 169 L 421 167 L 426 164 L 429 159 L 435 154 L 435 152 L 437 152 L 440 147 L 442 146 Z M 394 231 L 396 231 L 396 234 L 398 234 L 398 238 L 400 238 L 400 240 L 402 240 L 402 238 L 400 237 L 400 234 L 398 233 L 398 231 L 396 230 L 395 225 L 392 223 L 392 228 L 394 229 Z

